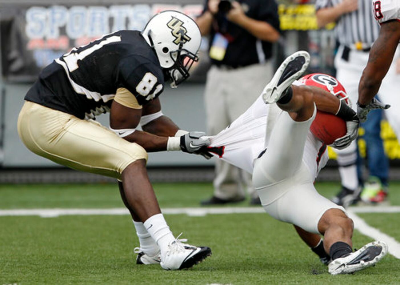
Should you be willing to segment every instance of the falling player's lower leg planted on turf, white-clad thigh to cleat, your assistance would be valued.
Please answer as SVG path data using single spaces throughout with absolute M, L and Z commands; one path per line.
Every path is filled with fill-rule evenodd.
M 304 179 L 303 173 L 296 173 L 290 182 L 284 185 L 289 190 L 264 209 L 272 217 L 292 223 L 308 233 L 323 234 L 324 249 L 332 258 L 328 265 L 331 274 L 364 269 L 386 255 L 387 246 L 379 241 L 353 252 L 353 223 L 344 208 L 322 197 L 313 183 Z

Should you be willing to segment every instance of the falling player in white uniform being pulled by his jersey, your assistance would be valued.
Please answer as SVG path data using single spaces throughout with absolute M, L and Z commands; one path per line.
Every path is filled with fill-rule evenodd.
M 310 247 L 323 247 L 331 274 L 352 273 L 378 262 L 387 245 L 374 241 L 352 251 L 353 222 L 343 207 L 318 194 L 314 180 L 327 161 L 326 145 L 311 132 L 317 109 L 344 119 L 347 133 L 332 144 L 344 148 L 357 136 L 356 112 L 326 90 L 296 82 L 310 56 L 289 56 L 254 104 L 225 130 L 210 138 L 210 153 L 253 174 L 262 206 L 272 217 L 292 223 Z M 325 75 L 326 76 L 326 75 Z M 306 78 L 306 77 L 305 77 Z M 323 82 L 335 78 L 326 76 Z M 294 84 L 292 84 L 294 83 Z M 342 92 L 344 93 L 344 92 Z M 274 104 L 276 102 L 276 104 Z M 265 106 L 265 104 L 268 104 Z

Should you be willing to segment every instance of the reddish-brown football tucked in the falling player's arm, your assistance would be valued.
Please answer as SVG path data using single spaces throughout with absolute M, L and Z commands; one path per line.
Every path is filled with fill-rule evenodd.
M 310 130 L 325 145 L 331 145 L 337 138 L 344 136 L 347 132 L 346 122 L 343 119 L 334 114 L 321 111 L 317 111 Z

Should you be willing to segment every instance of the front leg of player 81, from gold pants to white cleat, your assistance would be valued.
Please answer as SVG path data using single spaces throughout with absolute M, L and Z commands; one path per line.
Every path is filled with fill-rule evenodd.
M 22 108 L 18 132 L 25 145 L 38 155 L 81 171 L 122 179 L 128 208 L 160 247 L 164 269 L 191 267 L 211 254 L 208 247 L 185 248 L 172 235 L 147 176 L 147 153 L 139 145 L 96 122 L 32 102 Z

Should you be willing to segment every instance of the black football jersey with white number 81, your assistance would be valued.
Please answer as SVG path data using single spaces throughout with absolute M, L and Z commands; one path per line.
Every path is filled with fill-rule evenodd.
M 25 100 L 93 118 L 109 110 L 120 87 L 141 105 L 164 89 L 156 53 L 138 31 L 121 30 L 72 49 L 42 70 Z

